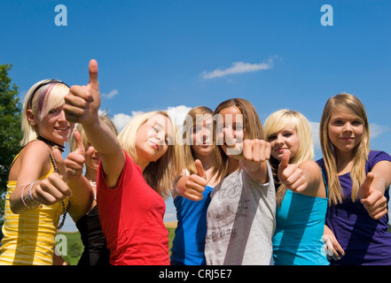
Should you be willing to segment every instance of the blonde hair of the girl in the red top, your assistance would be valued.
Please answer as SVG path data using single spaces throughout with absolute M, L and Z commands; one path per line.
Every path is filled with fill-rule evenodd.
M 129 157 L 138 164 L 136 150 L 136 134 L 140 126 L 143 126 L 148 119 L 155 115 L 162 115 L 168 119 L 174 130 L 174 142 L 168 142 L 168 150 L 156 162 L 150 162 L 143 171 L 145 181 L 156 192 L 166 199 L 172 193 L 173 181 L 181 174 L 184 169 L 184 149 L 179 144 L 180 136 L 176 124 L 171 119 L 167 111 L 151 111 L 138 115 L 131 119 L 127 126 L 123 128 L 118 135 L 121 148 L 124 149 Z

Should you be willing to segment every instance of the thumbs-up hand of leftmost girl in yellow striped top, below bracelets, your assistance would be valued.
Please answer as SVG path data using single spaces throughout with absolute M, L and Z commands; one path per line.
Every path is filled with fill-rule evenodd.
M 68 196 L 72 196 L 71 189 L 66 185 L 66 166 L 59 149 L 52 149 L 52 156 L 56 164 L 56 171 L 46 179 L 37 182 L 31 189 L 33 199 L 38 203 L 51 205 L 59 203 Z

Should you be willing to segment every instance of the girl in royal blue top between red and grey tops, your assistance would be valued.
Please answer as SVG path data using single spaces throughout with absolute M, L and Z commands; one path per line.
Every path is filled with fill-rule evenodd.
M 198 106 L 184 121 L 186 170 L 173 192 L 178 224 L 172 242 L 172 265 L 205 265 L 207 207 L 218 183 L 213 176 L 213 111 Z

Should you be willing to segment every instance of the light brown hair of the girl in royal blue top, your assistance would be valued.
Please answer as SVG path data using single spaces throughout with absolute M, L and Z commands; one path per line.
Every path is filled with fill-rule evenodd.
M 194 164 L 194 152 L 192 149 L 192 141 L 190 140 L 193 132 L 193 127 L 197 123 L 197 115 L 203 115 L 204 120 L 209 118 L 212 119 L 213 111 L 207 106 L 197 106 L 192 108 L 187 113 L 189 119 L 184 120 L 184 168 L 188 169 L 191 174 L 196 174 L 197 169 Z M 192 121 L 192 123 L 188 123 Z

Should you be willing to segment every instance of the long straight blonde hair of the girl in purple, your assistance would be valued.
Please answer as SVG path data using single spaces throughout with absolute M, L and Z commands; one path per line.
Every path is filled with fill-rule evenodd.
M 328 134 L 328 125 L 332 117 L 332 112 L 335 110 L 346 111 L 356 115 L 364 126 L 363 138 L 361 142 L 357 144 L 356 148 L 353 149 L 354 165 L 350 172 L 350 178 L 352 180 L 351 198 L 353 202 L 357 199 L 360 184 L 365 180 L 365 162 L 367 161 L 370 152 L 370 131 L 363 103 L 361 103 L 356 96 L 349 94 L 340 94 L 329 98 L 327 103 L 325 103 L 325 109 L 322 114 L 322 119 L 320 120 L 319 134 L 330 192 L 329 203 L 332 205 L 341 203 L 344 197 L 337 174 L 337 156 Z

